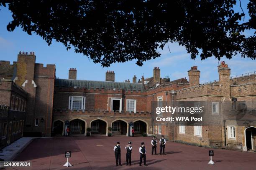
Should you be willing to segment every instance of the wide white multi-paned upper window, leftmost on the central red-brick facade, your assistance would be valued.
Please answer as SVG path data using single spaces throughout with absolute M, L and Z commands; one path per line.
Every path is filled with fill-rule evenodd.
M 84 110 L 85 109 L 85 97 L 83 96 L 69 96 L 69 109 Z

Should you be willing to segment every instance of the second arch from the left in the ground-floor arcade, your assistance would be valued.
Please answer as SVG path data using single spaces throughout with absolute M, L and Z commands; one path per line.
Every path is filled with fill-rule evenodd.
M 74 119 L 69 122 L 70 134 L 84 134 L 85 133 L 85 122 L 80 119 Z

